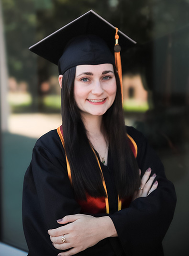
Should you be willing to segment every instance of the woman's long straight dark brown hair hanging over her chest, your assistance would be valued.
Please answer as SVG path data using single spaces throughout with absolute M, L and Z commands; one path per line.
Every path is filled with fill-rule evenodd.
M 120 80 L 114 67 L 117 83 L 115 100 L 103 115 L 102 122 L 109 147 L 117 192 L 120 198 L 133 195 L 140 186 L 137 162 L 128 144 L 122 110 Z M 100 168 L 89 144 L 80 111 L 74 99 L 76 67 L 68 69 L 62 79 L 61 111 L 65 150 L 71 168 L 73 189 L 78 199 L 106 196 Z

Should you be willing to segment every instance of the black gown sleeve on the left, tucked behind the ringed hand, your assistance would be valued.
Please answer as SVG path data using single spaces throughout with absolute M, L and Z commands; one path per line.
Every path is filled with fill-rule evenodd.
M 60 226 L 57 219 L 80 211 L 67 176 L 65 155 L 57 158 L 57 146 L 51 141 L 48 144 L 51 152 L 39 142 L 35 145 L 24 177 L 22 219 L 29 256 L 57 256 L 60 251 L 52 245 L 48 229 Z

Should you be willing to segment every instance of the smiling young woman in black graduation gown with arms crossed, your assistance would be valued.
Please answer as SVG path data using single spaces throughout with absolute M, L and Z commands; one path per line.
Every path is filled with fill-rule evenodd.
M 162 256 L 175 191 L 144 136 L 124 125 L 114 57 L 82 35 L 58 61 L 62 125 L 36 142 L 24 178 L 29 255 Z

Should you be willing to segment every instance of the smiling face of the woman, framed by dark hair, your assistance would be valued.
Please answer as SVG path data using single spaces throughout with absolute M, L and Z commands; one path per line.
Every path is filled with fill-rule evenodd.
M 116 89 L 112 64 L 76 67 L 74 98 L 81 113 L 103 115 L 113 104 Z

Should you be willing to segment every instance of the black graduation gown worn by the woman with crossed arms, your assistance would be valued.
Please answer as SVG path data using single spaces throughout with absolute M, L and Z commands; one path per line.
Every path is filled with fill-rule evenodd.
M 141 197 L 122 205 L 118 211 L 118 197 L 111 171 L 111 154 L 108 166 L 101 165 L 108 192 L 110 213 L 97 211 L 96 217 L 108 215 L 118 237 L 106 238 L 97 245 L 78 253 L 79 256 L 163 256 L 162 240 L 172 221 L 176 194 L 173 184 L 167 180 L 164 167 L 143 134 L 127 127 L 137 145 L 136 160 L 142 175 L 148 167 L 156 173 L 158 188 L 148 197 Z M 111 150 L 111 149 L 109 149 Z M 75 199 L 67 174 L 64 147 L 56 130 L 39 138 L 33 148 L 33 156 L 23 184 L 23 229 L 29 248 L 29 256 L 57 256 L 48 229 L 60 225 L 56 220 L 70 214 L 85 213 Z M 94 210 L 94 209 L 93 209 Z

